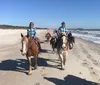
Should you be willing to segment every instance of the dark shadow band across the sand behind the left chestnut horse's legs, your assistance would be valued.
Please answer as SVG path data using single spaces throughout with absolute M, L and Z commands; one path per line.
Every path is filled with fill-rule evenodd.
M 31 61 L 32 66 L 34 67 L 34 58 L 31 58 Z M 38 58 L 38 66 L 56 68 L 55 66 L 48 64 L 47 61 L 56 62 L 56 60 Z M 28 71 L 28 61 L 27 59 L 4 60 L 0 62 L 0 70 L 27 73 L 26 71 Z

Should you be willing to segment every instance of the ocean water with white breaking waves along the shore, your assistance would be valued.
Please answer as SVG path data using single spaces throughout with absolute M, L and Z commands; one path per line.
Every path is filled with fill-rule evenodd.
M 72 30 L 75 37 L 100 44 L 100 30 Z

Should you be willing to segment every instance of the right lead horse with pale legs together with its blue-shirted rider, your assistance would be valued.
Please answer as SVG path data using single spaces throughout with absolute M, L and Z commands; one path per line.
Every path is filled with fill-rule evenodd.
M 62 22 L 61 25 L 62 26 L 58 29 L 57 53 L 61 62 L 61 69 L 64 70 L 69 50 L 68 30 L 66 29 L 65 22 Z

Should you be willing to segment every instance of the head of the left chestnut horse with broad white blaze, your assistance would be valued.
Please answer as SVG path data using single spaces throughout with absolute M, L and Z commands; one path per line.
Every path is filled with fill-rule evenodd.
M 24 36 L 21 33 L 21 44 L 22 44 L 22 49 L 20 50 L 22 55 L 25 55 L 27 53 L 27 46 L 28 46 L 28 38 L 27 36 Z

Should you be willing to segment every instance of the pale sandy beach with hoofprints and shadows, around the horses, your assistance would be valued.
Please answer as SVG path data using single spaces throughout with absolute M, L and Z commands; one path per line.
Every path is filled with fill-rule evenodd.
M 29 76 L 27 59 L 20 53 L 20 33 L 26 30 L 0 29 L 0 85 L 100 85 L 99 44 L 76 38 L 63 71 L 58 55 L 44 42 L 46 30 L 37 30 L 44 52 L 39 54 L 38 69 Z

